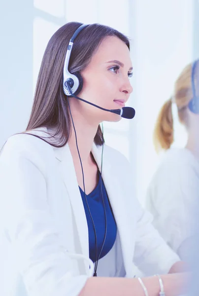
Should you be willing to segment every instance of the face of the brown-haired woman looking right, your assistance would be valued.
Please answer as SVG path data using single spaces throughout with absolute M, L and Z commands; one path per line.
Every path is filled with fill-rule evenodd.
M 132 62 L 127 45 L 118 37 L 106 37 L 94 53 L 86 69 L 81 72 L 83 88 L 78 96 L 105 109 L 121 109 L 133 88 Z M 102 111 L 94 106 L 71 98 L 76 111 L 90 121 L 119 121 L 120 115 Z

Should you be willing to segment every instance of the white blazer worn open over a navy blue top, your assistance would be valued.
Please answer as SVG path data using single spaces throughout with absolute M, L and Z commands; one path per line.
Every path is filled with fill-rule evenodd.
M 46 129 L 34 131 L 45 134 Z M 52 140 L 51 141 L 55 141 Z M 55 142 L 54 142 L 55 143 Z M 101 147 L 92 153 L 101 165 Z M 127 277 L 167 273 L 178 256 L 132 195 L 130 165 L 104 145 L 102 178 L 118 227 Z M 3 296 L 76 296 L 90 274 L 88 227 L 68 145 L 54 148 L 31 135 L 10 137 L 0 155 L 0 217 L 8 245 L 1 252 Z M 2 280 L 2 278 L 1 278 Z M 3 290 L 4 289 L 4 290 Z

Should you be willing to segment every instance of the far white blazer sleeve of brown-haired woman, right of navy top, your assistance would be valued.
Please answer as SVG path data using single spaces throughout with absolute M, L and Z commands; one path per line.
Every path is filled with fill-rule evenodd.
M 134 262 L 146 275 L 166 274 L 179 257 L 168 247 L 152 225 L 152 215 L 136 205 L 137 227 Z

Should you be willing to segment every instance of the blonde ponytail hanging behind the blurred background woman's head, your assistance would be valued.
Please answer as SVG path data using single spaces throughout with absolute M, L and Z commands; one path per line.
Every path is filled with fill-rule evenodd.
M 161 149 L 169 149 L 173 143 L 173 117 L 171 98 L 163 105 L 157 118 L 153 142 L 157 152 Z

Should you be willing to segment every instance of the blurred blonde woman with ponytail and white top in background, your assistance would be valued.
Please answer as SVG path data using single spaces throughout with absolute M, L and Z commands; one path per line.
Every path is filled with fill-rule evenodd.
M 166 150 L 148 187 L 146 207 L 154 216 L 154 226 L 167 244 L 183 260 L 189 259 L 194 229 L 194 208 L 199 200 L 199 115 L 190 111 L 193 98 L 192 66 L 187 65 L 174 85 L 173 97 L 162 107 L 154 130 L 156 150 Z M 195 62 L 194 90 L 199 96 L 199 60 Z M 171 148 L 173 117 L 171 105 L 177 105 L 178 119 L 187 131 L 184 148 Z

